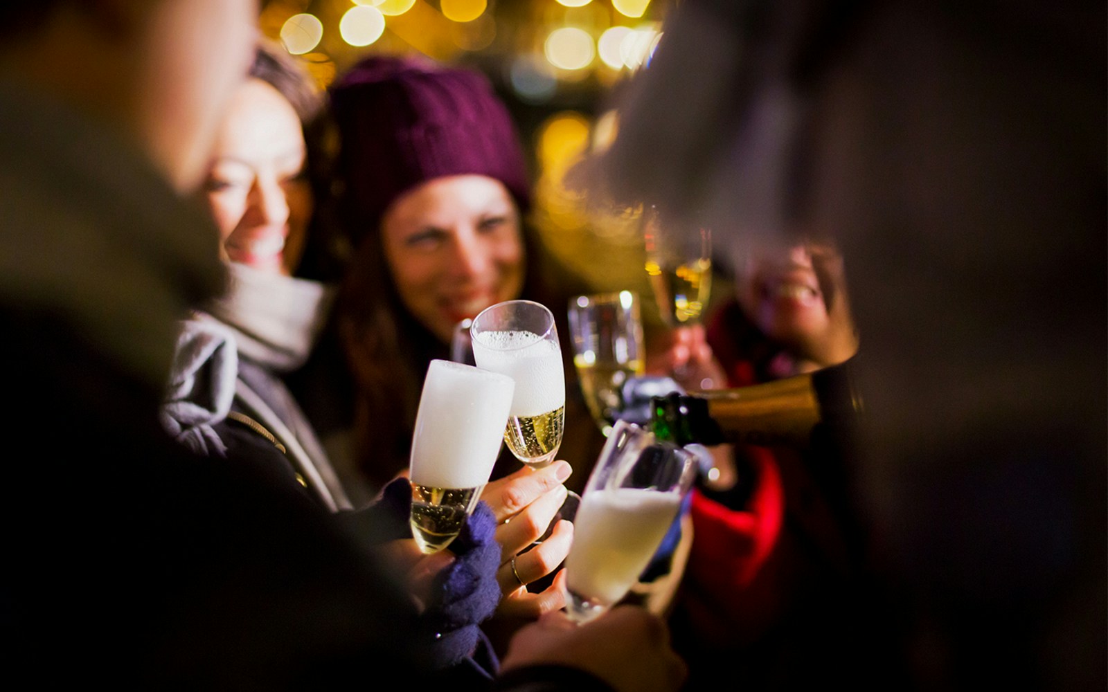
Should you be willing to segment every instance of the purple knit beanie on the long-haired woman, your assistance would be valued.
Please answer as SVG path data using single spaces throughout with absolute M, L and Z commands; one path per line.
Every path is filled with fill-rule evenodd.
M 507 109 L 479 72 L 421 58 L 373 55 L 330 89 L 340 137 L 339 174 L 355 244 L 380 225 L 392 202 L 432 178 L 495 178 L 521 210 L 527 171 Z

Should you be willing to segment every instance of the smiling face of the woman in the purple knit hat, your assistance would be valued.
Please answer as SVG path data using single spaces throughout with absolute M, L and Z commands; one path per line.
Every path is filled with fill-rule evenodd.
M 434 178 L 381 219 L 384 258 L 404 307 L 443 343 L 464 318 L 523 290 L 520 213 L 483 175 Z

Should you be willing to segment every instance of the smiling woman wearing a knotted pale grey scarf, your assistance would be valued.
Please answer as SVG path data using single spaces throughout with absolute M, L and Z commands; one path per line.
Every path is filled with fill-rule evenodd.
M 346 493 L 280 380 L 307 359 L 332 293 L 293 276 L 314 210 L 305 133 L 319 106 L 293 59 L 258 48 L 218 130 L 204 185 L 232 280 L 184 323 L 163 422 L 213 456 L 235 455 L 243 425 L 252 440 L 264 430 L 284 452 L 275 466 L 335 510 L 350 506 Z

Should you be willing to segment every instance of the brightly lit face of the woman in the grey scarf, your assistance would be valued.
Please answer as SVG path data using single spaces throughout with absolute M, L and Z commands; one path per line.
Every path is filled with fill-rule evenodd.
M 219 128 L 205 190 L 227 259 L 290 275 L 300 259 L 311 188 L 300 118 L 276 89 L 238 87 Z

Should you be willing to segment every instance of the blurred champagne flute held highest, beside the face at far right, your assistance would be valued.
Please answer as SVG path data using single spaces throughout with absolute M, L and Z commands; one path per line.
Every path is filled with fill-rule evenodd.
M 643 210 L 646 273 L 663 321 L 681 328 L 700 321 L 711 295 L 711 229 Z

